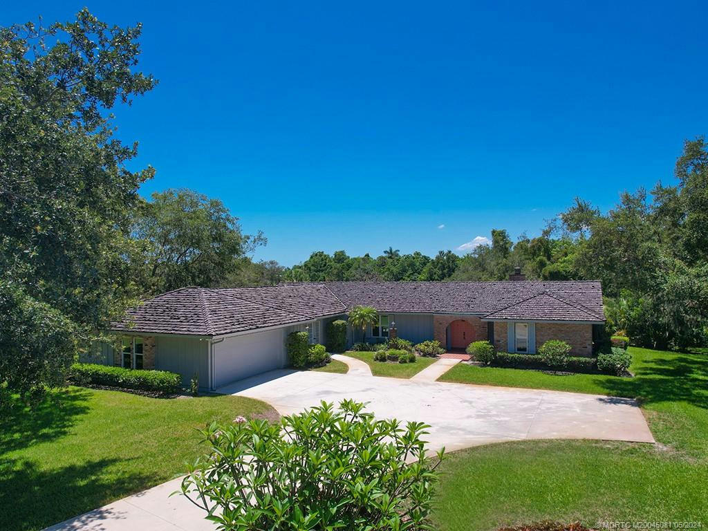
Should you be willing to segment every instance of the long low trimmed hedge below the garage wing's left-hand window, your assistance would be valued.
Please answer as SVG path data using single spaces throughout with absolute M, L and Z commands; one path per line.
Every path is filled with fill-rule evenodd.
M 176 393 L 182 388 L 182 377 L 165 370 L 125 369 L 93 363 L 74 363 L 69 379 L 78 384 L 105 385 L 159 393 Z

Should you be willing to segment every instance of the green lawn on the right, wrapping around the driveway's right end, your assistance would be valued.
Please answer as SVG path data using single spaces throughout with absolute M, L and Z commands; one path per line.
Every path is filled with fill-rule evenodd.
M 631 379 L 457 365 L 444 379 L 639 398 L 657 445 L 543 440 L 455 452 L 435 523 L 495 530 L 538 520 L 708 525 L 708 355 L 631 348 Z

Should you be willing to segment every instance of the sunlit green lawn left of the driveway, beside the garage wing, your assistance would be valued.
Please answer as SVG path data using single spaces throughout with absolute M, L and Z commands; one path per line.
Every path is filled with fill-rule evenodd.
M 0 529 L 36 530 L 160 484 L 205 447 L 195 428 L 277 416 L 237 396 L 152 399 L 69 387 L 0 420 Z

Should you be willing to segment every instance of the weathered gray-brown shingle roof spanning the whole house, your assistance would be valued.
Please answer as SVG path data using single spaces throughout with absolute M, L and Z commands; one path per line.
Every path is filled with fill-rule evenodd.
M 379 312 L 477 314 L 490 320 L 605 319 L 599 281 L 300 282 L 220 290 L 185 287 L 130 309 L 111 329 L 221 336 L 343 314 L 360 304 Z

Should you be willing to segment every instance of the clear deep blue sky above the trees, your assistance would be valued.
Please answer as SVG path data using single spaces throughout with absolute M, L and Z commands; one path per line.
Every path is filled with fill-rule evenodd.
M 11 2 L 0 24 L 84 3 Z M 221 198 L 284 265 L 433 254 L 672 182 L 708 133 L 704 1 L 333 4 L 87 4 L 144 24 L 160 83 L 115 111 L 157 171 L 141 192 Z

